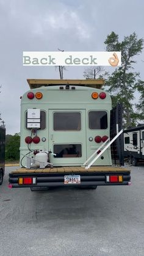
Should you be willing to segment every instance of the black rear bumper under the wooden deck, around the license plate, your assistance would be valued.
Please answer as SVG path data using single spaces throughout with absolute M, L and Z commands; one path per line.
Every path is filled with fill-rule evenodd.
M 65 175 L 81 175 L 81 184 L 65 185 Z M 107 182 L 107 175 L 122 175 L 122 182 Z M 19 185 L 18 179 L 23 177 L 36 178 L 35 185 Z M 73 172 L 73 173 L 11 173 L 9 174 L 11 188 L 31 188 L 31 187 L 54 187 L 54 186 L 112 186 L 131 185 L 130 171 L 122 172 Z

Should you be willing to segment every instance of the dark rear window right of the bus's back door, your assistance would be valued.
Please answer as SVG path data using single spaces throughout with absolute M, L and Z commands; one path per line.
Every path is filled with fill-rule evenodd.
M 90 129 L 107 129 L 107 112 L 90 111 L 88 113 L 88 126 Z

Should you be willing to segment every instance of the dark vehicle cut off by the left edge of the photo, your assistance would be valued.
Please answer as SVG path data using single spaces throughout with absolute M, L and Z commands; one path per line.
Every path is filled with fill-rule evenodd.
M 0 185 L 2 185 L 5 166 L 5 128 L 0 126 Z

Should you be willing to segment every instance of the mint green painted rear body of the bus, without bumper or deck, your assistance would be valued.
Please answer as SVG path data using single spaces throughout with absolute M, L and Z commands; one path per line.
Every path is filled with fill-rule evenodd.
M 100 89 L 95 89 L 91 87 L 82 87 L 82 86 L 74 86 L 75 89 L 60 89 L 60 86 L 49 86 L 49 87 L 40 87 L 38 89 L 31 90 L 34 94 L 37 92 L 41 92 L 43 97 L 38 100 L 34 98 L 29 100 L 27 98 L 27 93 L 24 93 L 21 99 L 21 146 L 20 146 L 20 161 L 24 155 L 29 152 L 27 148 L 27 144 L 25 142 L 25 138 L 27 136 L 31 136 L 31 129 L 26 128 L 26 112 L 27 109 L 40 109 L 40 111 L 45 112 L 45 128 L 37 129 L 37 136 L 40 137 L 40 142 L 38 144 L 34 144 L 34 142 L 29 145 L 31 150 L 43 150 L 43 151 L 51 151 L 53 153 L 56 152 L 56 145 L 79 145 L 81 146 L 80 155 L 73 156 L 71 154 L 68 156 L 67 152 L 65 152 L 64 157 L 54 157 L 51 155 L 51 163 L 54 166 L 82 166 L 82 164 L 86 161 L 86 159 L 95 152 L 95 150 L 99 147 L 99 145 L 103 144 L 103 141 L 100 143 L 95 142 L 96 136 L 107 136 L 110 135 L 110 109 L 112 108 L 111 98 L 108 93 L 106 93 L 106 98 L 101 99 L 93 99 L 92 93 L 97 92 L 98 94 L 104 92 Z M 98 129 L 90 128 L 90 112 L 94 112 L 106 115 L 107 116 L 107 128 L 100 128 L 98 125 Z M 66 114 L 61 114 L 66 113 Z M 60 115 L 68 118 L 67 115 L 72 115 L 71 118 L 74 118 L 74 114 L 79 119 L 79 128 L 74 127 L 63 127 L 62 128 L 54 128 L 54 117 L 56 119 L 60 118 Z M 64 115 L 64 116 L 63 116 Z M 77 116 L 78 115 L 78 116 Z M 73 120 L 71 120 L 73 122 Z M 60 120 L 56 120 L 56 122 L 60 122 Z M 99 122 L 95 120 L 95 122 Z M 65 123 L 67 125 L 67 123 Z M 59 126 L 59 124 L 58 124 Z M 71 129 L 71 130 L 70 130 Z M 45 141 L 43 141 L 45 138 Z M 90 141 L 92 140 L 92 141 Z M 103 157 L 99 158 L 95 166 L 111 166 L 111 154 L 110 148 L 104 152 Z M 23 166 L 26 166 L 26 158 L 23 159 Z

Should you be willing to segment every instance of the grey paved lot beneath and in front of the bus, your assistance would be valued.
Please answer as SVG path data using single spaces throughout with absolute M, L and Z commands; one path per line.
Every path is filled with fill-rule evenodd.
M 0 186 L 1 256 L 144 255 L 144 165 L 131 186 L 96 190 Z

